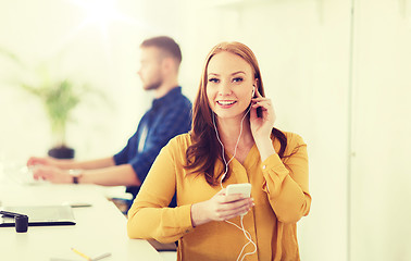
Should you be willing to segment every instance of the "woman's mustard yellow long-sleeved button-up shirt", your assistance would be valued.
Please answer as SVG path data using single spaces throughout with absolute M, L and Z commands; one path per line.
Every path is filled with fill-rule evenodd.
M 251 183 L 256 206 L 244 216 L 244 226 L 257 244 L 257 252 L 245 260 L 300 260 L 296 222 L 310 211 L 307 145 L 296 134 L 285 133 L 285 156 L 270 156 L 261 162 L 254 145 L 244 164 L 229 163 L 232 175 L 223 183 Z M 273 137 L 272 137 L 273 138 Z M 183 167 L 189 134 L 172 139 L 154 161 L 137 198 L 128 211 L 130 238 L 178 240 L 177 260 L 236 260 L 248 243 L 241 229 L 227 222 L 209 222 L 192 227 L 192 203 L 209 200 L 221 187 L 210 186 L 202 175 L 189 174 Z M 279 141 L 273 141 L 278 151 Z M 216 169 L 223 167 L 216 162 Z M 167 208 L 174 192 L 177 207 Z M 231 220 L 240 225 L 240 217 Z M 249 244 L 244 253 L 253 251 Z

